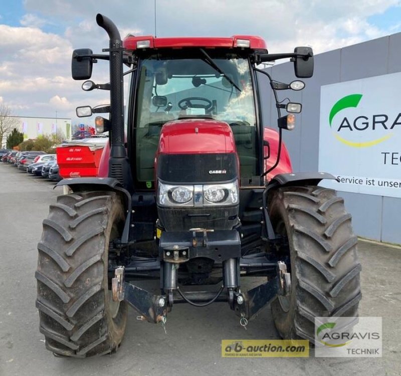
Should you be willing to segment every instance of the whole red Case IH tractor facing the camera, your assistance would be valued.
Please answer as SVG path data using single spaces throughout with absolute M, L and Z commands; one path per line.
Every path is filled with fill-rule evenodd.
M 77 115 L 109 112 L 96 127 L 110 133 L 110 148 L 103 177 L 58 184 L 70 193 L 43 222 L 36 305 L 46 347 L 75 357 L 116 350 L 128 305 L 164 325 L 175 304 L 227 302 L 246 325 L 270 303 L 283 338 L 311 342 L 314 317 L 356 316 L 351 216 L 333 190 L 317 186 L 335 178 L 293 173 L 282 143 L 301 105 L 278 91 L 304 83 L 257 68 L 290 58 L 298 78 L 311 77 L 312 50 L 268 54 L 251 36 L 121 41 L 107 17 L 96 21 L 109 35 L 108 53 L 75 50 L 72 76 L 88 80 L 93 63 L 109 61 L 109 83 L 82 87 L 109 90 L 110 105 L 78 107 Z M 261 120 L 263 80 L 276 98 L 278 132 Z M 267 278 L 244 291 L 248 276 Z M 149 279 L 159 281 L 156 291 L 141 285 Z

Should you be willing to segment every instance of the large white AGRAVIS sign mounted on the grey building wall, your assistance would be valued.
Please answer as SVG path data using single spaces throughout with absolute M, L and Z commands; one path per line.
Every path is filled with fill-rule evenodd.
M 401 73 L 324 85 L 319 171 L 339 191 L 401 197 Z

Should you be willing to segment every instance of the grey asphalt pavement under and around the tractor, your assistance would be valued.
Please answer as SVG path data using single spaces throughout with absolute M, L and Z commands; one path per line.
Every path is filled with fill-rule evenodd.
M 129 309 L 125 338 L 113 355 L 59 358 L 45 349 L 35 307 L 37 242 L 61 188 L 0 164 L 0 376 L 9 375 L 399 375 L 401 248 L 359 242 L 360 316 L 380 316 L 380 358 L 222 358 L 222 339 L 279 339 L 266 307 L 247 330 L 226 303 L 177 305 L 161 325 Z M 376 218 L 366 218 L 376 220 Z

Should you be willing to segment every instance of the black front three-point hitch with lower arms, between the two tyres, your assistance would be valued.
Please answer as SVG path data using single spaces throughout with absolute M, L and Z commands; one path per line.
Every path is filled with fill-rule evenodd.
M 231 231 L 229 231 L 231 232 Z M 235 231 L 236 232 L 236 231 Z M 161 293 L 155 295 L 124 281 L 124 267 L 118 267 L 114 271 L 112 279 L 112 296 L 114 301 L 126 301 L 136 311 L 140 320 L 162 324 L 165 323 L 167 312 L 171 311 L 173 304 L 189 303 L 196 307 L 205 307 L 213 302 L 228 302 L 238 316 L 240 323 L 246 326 L 248 320 L 253 318 L 276 295 L 289 296 L 291 291 L 291 276 L 287 272 L 284 262 L 268 263 L 264 261 L 250 262 L 249 259 L 226 258 L 222 262 L 223 284 L 218 292 L 211 291 L 182 291 L 178 286 L 178 268 L 190 260 L 199 251 L 208 254 L 208 250 L 221 248 L 218 257 L 224 254 L 224 246 L 236 242 L 235 232 L 226 233 L 224 240 L 216 238 L 216 232 L 204 229 L 193 229 L 192 236 L 184 236 L 175 244 L 169 242 L 168 237 L 160 239 L 160 280 Z M 213 234 L 213 235 L 212 235 Z M 222 235 L 222 234 L 220 234 Z M 176 239 L 177 240 L 177 239 Z M 237 239 L 239 240 L 239 239 Z M 219 244 L 217 244 L 219 243 Z M 200 249 L 198 249 L 200 248 Z M 260 269 L 261 267 L 273 267 L 276 275 L 251 290 L 242 292 L 239 284 L 240 269 Z

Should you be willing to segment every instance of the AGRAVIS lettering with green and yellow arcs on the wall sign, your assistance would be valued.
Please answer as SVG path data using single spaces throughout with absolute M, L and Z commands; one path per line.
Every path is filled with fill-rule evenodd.
M 329 114 L 330 127 L 335 131 L 334 137 L 344 145 L 353 148 L 366 148 L 388 140 L 392 136 L 392 133 L 382 136 L 383 131 L 391 131 L 395 126 L 401 125 L 401 112 L 394 118 L 390 118 L 385 113 L 372 114 L 369 116 L 365 114 L 357 114 L 352 117 L 336 116 L 338 112 L 346 108 L 356 108 L 362 99 L 362 96 L 362 94 L 350 94 L 342 97 L 333 105 L 333 107 L 331 107 Z M 333 118 L 335 116 L 336 121 L 334 122 Z M 355 132 L 370 132 L 371 134 L 380 137 L 365 142 L 354 142 L 349 140 L 349 137 L 352 138 L 352 134 L 355 134 Z

